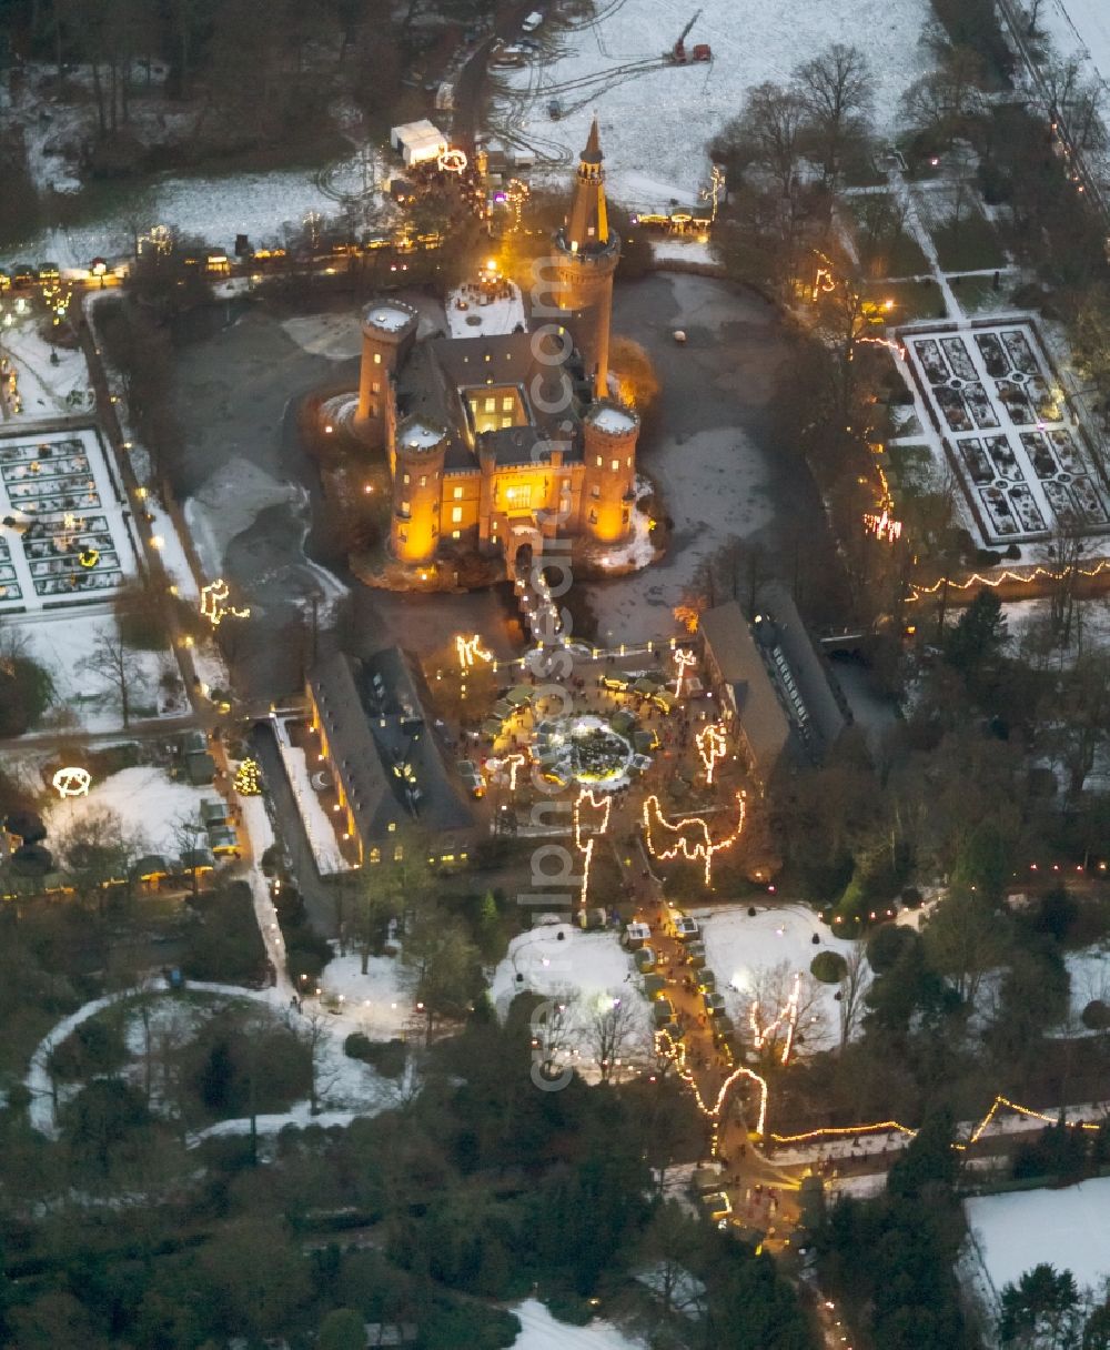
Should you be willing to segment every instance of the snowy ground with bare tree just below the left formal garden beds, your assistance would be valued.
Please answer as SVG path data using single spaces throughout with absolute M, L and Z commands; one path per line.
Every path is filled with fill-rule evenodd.
M 4 618 L 5 637 L 45 666 L 54 680 L 54 699 L 41 726 L 74 726 L 112 732 L 122 726 L 119 701 L 99 676 L 82 668 L 101 632 L 115 633 L 105 608 L 54 610 Z M 155 711 L 174 717 L 188 710 L 177 662 L 171 652 L 132 652 L 136 678 L 131 682 L 131 716 Z M 163 683 L 165 682 L 165 683 Z

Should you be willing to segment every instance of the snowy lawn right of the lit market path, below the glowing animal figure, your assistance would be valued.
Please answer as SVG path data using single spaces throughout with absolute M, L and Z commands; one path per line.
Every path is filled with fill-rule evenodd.
M 853 944 L 835 938 L 813 910 L 791 905 L 759 909 L 752 917 L 747 905 L 735 905 L 706 911 L 698 922 L 705 934 L 706 963 L 737 1025 L 747 1025 L 752 999 L 760 992 L 760 984 L 767 983 L 768 973 L 786 967 L 791 979 L 795 973 L 806 979 L 803 1003 L 810 1006 L 803 1008 L 798 1023 L 803 1038 L 801 1048 L 821 1050 L 839 1035 L 837 986 L 813 980 L 809 967 L 818 952 L 833 950 L 847 957 Z M 814 936 L 820 937 L 820 944 L 814 944 Z M 813 1017 L 818 1021 L 812 1022 Z

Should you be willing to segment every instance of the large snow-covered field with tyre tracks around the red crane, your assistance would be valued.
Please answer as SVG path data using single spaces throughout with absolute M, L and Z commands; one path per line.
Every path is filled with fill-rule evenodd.
M 594 19 L 552 28 L 532 65 L 505 74 L 490 130 L 508 144 L 532 146 L 563 174 L 596 112 L 613 196 L 633 209 L 659 209 L 695 200 L 709 177 L 705 144 L 751 88 L 789 80 L 832 43 L 867 54 L 880 128 L 891 127 L 902 92 L 929 66 L 920 45 L 925 0 L 708 0 L 686 46 L 709 43 L 712 63 L 666 63 L 694 8 L 616 0 L 596 5 Z M 647 69 L 621 69 L 631 63 Z M 558 122 L 547 111 L 552 99 L 562 104 Z

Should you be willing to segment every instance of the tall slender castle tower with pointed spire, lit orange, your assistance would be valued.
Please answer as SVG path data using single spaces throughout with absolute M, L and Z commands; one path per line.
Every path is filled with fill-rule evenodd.
M 574 180 L 570 211 L 555 231 L 552 250 L 556 304 L 566 313 L 597 398 L 608 393 L 613 273 L 621 252 L 620 238 L 609 228 L 601 158 L 594 119 Z

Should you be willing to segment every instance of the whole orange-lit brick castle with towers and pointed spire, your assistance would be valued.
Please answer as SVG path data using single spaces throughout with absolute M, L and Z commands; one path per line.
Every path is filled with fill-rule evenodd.
M 421 568 L 470 545 L 502 552 L 512 572 L 544 539 L 627 537 L 640 421 L 608 387 L 618 258 L 594 123 L 532 296 L 547 323 L 417 342 L 413 308 L 367 308 L 355 427 L 389 455 L 398 562 Z

